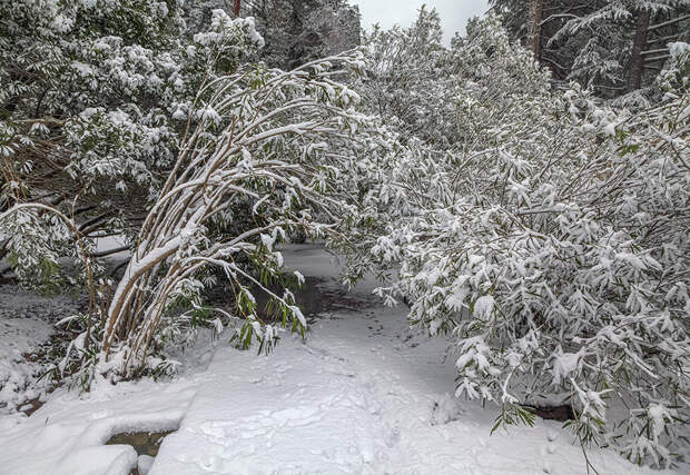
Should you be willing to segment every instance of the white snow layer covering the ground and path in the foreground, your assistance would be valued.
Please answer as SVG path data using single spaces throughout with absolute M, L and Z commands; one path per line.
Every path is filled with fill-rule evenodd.
M 286 261 L 333 276 L 321 250 L 292 246 Z M 333 281 L 333 285 L 335 283 Z M 151 475 L 584 474 L 582 451 L 559 423 L 490 436 L 494 409 L 455 399 L 445 343 L 413 335 L 404 308 L 357 290 L 357 311 L 317 319 L 306 343 L 286 335 L 267 357 L 219 345 L 208 368 L 174 383 L 60 392 L 31 417 L 0 419 L 0 474 L 127 474 L 126 431 L 179 429 Z M 670 474 L 590 451 L 600 474 Z

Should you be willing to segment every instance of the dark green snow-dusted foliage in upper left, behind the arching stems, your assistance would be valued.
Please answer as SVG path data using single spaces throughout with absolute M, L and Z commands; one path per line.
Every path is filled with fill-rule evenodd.
M 87 237 L 134 234 L 197 120 L 200 85 L 263 46 L 252 19 L 210 17 L 193 32 L 176 1 L 0 3 L 0 209 L 42 202 Z M 57 271 L 71 241 L 59 227 L 0 234 L 0 258 L 51 285 L 56 273 L 33 273 L 34 260 Z

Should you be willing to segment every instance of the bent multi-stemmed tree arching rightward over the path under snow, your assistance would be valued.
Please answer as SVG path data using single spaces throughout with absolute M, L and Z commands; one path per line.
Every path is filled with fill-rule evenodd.
M 364 152 L 368 160 L 379 152 L 371 145 L 379 132 L 352 108 L 357 95 L 334 79 L 361 65 L 354 55 L 290 72 L 246 67 L 200 91 L 198 125 L 184 140 L 103 315 L 101 372 L 119 365 L 119 373 L 130 375 L 146 366 L 181 301 L 190 311 L 241 319 L 240 344 L 255 339 L 269 348 L 278 330 L 257 316 L 252 285 L 270 296 L 283 325 L 304 330 L 292 293 L 273 293 L 257 275 L 279 273 L 275 244 L 292 230 L 337 239 L 355 215 L 365 215 L 354 212 L 365 180 L 353 170 L 362 169 Z M 219 222 L 247 218 L 253 225 L 236 234 L 211 232 Z M 203 306 L 200 276 L 209 266 L 229 280 L 237 315 Z

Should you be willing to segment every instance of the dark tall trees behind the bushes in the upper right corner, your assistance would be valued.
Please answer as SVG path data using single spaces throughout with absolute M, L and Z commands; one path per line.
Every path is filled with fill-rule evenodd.
M 613 98 L 649 86 L 669 58 L 667 44 L 690 40 L 688 0 L 491 0 L 513 39 L 556 80 L 576 80 Z

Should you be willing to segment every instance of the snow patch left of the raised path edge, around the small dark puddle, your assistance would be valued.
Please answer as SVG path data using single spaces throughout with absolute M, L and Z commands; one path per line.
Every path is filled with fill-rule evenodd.
M 103 383 L 91 394 L 60 389 L 30 417 L 0 419 L 1 474 L 102 475 L 129 473 L 129 445 L 103 444 L 115 434 L 175 429 L 198 379 Z

